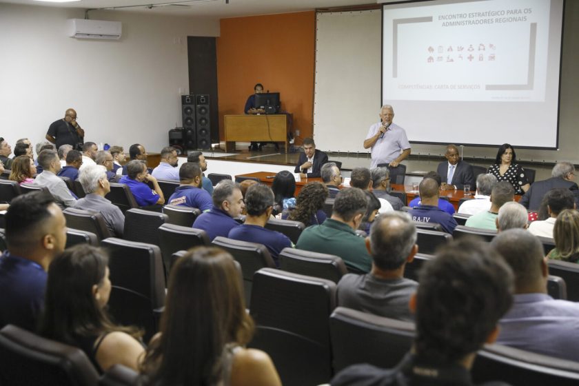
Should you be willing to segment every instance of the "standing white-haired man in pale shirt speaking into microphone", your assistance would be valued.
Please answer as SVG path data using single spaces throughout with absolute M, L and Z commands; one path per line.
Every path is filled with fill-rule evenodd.
M 364 140 L 364 148 L 372 148 L 370 169 L 378 164 L 387 163 L 392 171 L 410 154 L 410 143 L 406 132 L 392 123 L 392 119 L 394 119 L 394 109 L 391 105 L 383 105 L 380 111 L 380 122 L 370 126 Z

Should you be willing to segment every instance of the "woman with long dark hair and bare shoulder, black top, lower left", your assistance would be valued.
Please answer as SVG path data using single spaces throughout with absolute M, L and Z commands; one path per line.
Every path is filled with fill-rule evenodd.
M 89 167 L 83 168 L 85 172 Z M 105 179 L 106 181 L 106 179 Z M 108 256 L 88 244 L 65 250 L 50 263 L 39 333 L 79 347 L 99 373 L 114 365 L 138 370 L 145 352 L 135 327 L 114 325 L 106 312 L 111 283 Z

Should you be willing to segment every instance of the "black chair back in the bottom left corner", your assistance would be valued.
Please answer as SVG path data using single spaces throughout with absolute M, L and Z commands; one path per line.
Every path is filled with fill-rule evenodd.
M 96 386 L 99 374 L 85 353 L 14 325 L 0 330 L 0 384 Z

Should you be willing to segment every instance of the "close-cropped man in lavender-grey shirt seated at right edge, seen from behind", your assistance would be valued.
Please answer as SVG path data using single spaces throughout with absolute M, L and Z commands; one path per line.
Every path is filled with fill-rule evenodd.
M 525 230 L 507 230 L 491 245 L 511 266 L 515 298 L 499 322 L 497 343 L 579 362 L 579 303 L 547 295 L 543 247 Z

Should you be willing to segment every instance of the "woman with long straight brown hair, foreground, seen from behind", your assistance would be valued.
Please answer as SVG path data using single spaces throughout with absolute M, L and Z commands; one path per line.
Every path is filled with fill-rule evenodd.
M 254 323 L 230 254 L 196 247 L 179 258 L 165 304 L 141 365 L 147 385 L 281 386 L 270 356 L 245 348 Z

